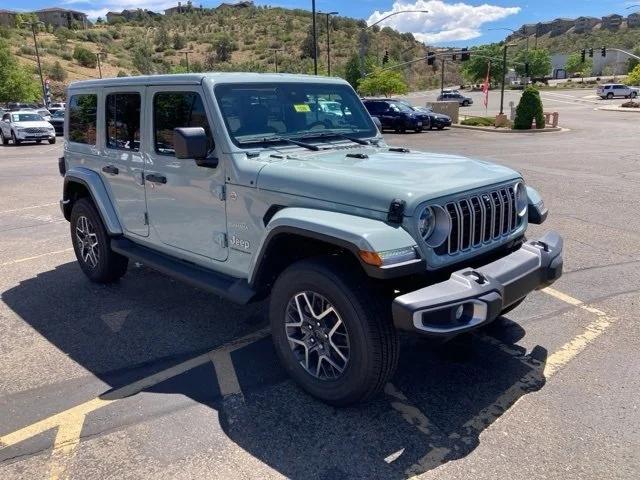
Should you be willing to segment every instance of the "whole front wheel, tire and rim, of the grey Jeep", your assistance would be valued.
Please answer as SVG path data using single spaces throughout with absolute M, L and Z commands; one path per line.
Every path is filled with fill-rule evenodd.
M 337 257 L 302 260 L 271 292 L 271 330 L 282 365 L 304 390 L 337 406 L 370 399 L 398 362 L 391 299 L 376 295 L 356 268 Z

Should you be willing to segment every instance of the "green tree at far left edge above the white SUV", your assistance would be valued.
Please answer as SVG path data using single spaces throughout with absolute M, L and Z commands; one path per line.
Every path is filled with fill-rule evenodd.
M 33 102 L 41 96 L 39 83 L 0 39 L 0 102 Z

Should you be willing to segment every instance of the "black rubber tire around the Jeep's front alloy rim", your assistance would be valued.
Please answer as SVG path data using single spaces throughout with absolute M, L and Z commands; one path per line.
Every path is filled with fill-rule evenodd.
M 376 395 L 398 363 L 399 343 L 391 322 L 391 298 L 375 289 L 357 268 L 335 256 L 302 260 L 278 277 L 271 292 L 271 331 L 282 365 L 304 390 L 336 406 L 363 402 Z M 285 327 L 287 309 L 300 292 L 325 297 L 346 326 L 349 361 L 337 379 L 313 376 L 290 347 Z

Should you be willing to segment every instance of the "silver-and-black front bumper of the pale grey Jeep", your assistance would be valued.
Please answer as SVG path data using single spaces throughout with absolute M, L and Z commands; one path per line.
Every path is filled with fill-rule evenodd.
M 396 328 L 450 337 L 495 320 L 503 310 L 562 275 L 562 237 L 549 232 L 539 240 L 480 268 L 454 272 L 393 301 Z

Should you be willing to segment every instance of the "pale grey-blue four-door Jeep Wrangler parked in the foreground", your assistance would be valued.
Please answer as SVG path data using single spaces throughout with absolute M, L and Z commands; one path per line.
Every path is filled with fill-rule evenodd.
M 282 365 L 334 405 L 380 391 L 398 330 L 451 338 L 562 273 L 557 233 L 525 237 L 547 210 L 520 174 L 387 146 L 340 79 L 77 82 L 65 123 L 61 207 L 89 279 L 133 260 L 270 297 Z

